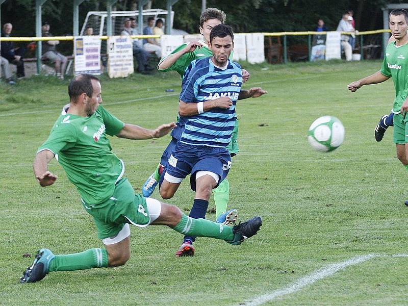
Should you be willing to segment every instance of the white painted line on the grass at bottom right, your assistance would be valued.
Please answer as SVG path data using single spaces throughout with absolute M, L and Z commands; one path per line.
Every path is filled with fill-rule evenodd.
M 328 266 L 326 266 L 324 268 L 321 268 L 321 269 L 317 270 L 316 272 L 313 272 L 310 275 L 299 278 L 295 283 L 293 283 L 292 285 L 290 285 L 290 286 L 288 286 L 286 288 L 278 289 L 278 290 L 276 290 L 276 291 L 274 291 L 272 293 L 261 295 L 259 297 L 253 298 L 253 299 L 245 302 L 243 305 L 245 305 L 245 306 L 262 305 L 263 303 L 271 301 L 271 300 L 273 300 L 273 299 L 275 299 L 277 297 L 281 297 L 281 296 L 284 296 L 284 295 L 291 294 L 291 293 L 294 293 L 296 291 L 299 291 L 303 287 L 312 285 L 313 283 L 316 283 L 320 279 L 323 279 L 325 277 L 333 275 L 337 271 L 343 270 L 348 266 L 360 264 L 362 262 L 368 261 L 368 260 L 370 260 L 372 258 L 375 258 L 375 257 L 393 257 L 393 258 L 395 258 L 395 257 L 408 257 L 408 254 L 394 254 L 394 255 L 391 255 L 391 256 L 384 255 L 384 254 L 367 254 L 367 255 L 363 255 L 363 256 L 359 256 L 359 257 L 354 257 L 352 259 L 349 259 L 349 260 L 341 262 L 341 263 L 328 265 Z M 242 305 L 242 304 L 240 304 L 240 305 Z

